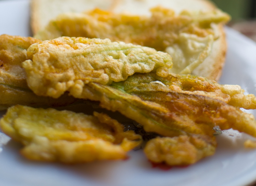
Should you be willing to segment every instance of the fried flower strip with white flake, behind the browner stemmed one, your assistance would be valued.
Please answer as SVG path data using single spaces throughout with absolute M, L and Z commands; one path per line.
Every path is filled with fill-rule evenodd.
M 256 97 L 253 94 L 244 95 L 244 90 L 239 85 L 221 85 L 216 81 L 191 74 L 169 74 L 164 78 L 152 73 L 135 74 L 128 77 L 126 81 L 114 83 L 112 86 L 123 87 L 126 92 L 138 95 L 143 91 L 201 95 L 218 99 L 235 107 L 256 109 Z

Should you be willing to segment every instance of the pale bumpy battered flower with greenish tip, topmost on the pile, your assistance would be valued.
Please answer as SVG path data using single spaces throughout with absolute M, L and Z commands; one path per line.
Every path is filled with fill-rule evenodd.
M 169 54 L 148 47 L 111 42 L 109 39 L 60 37 L 28 48 L 23 67 L 29 87 L 37 95 L 59 97 L 80 81 L 110 84 L 140 72 L 167 76 Z

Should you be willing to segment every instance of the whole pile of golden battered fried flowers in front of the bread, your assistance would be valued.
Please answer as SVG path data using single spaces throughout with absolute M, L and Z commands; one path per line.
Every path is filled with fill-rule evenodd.
M 213 20 L 222 21 L 218 16 Z M 213 37 L 208 19 L 192 18 L 197 26 L 209 27 L 205 37 Z M 201 33 L 198 27 L 186 31 Z M 63 36 L 41 41 L 1 35 L 0 41 L 1 108 L 15 105 L 0 125 L 25 146 L 21 153 L 28 159 L 65 163 L 125 159 L 144 138 L 143 149 L 150 161 L 189 165 L 214 154 L 217 126 L 256 137 L 253 115 L 240 110 L 256 109 L 254 95 L 244 95 L 238 85 L 220 85 L 186 74 L 190 72 L 186 66 L 181 67 L 185 74 L 173 74 L 172 66 L 178 65 L 167 53 L 99 38 Z M 155 44 L 163 46 L 165 41 Z M 200 58 L 196 56 L 194 61 Z M 89 116 L 28 107 L 84 100 L 118 111 L 136 125 L 124 130 L 123 124 L 103 113 Z

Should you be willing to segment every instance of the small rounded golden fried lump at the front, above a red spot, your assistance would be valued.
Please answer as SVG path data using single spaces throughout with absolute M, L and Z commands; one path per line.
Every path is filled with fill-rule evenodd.
M 215 152 L 215 147 L 196 136 L 156 137 L 144 148 L 147 158 L 155 163 L 189 165 Z

